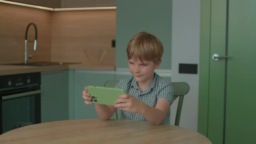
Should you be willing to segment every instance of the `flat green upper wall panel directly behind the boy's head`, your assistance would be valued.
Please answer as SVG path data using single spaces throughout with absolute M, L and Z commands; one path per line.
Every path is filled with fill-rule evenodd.
M 171 0 L 116 0 L 116 67 L 128 68 L 126 46 L 133 35 L 146 31 L 164 46 L 159 69 L 171 69 Z

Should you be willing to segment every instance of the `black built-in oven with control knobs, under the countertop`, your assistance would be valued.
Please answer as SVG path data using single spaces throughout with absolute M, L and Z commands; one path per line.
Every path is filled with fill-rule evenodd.
M 41 122 L 41 73 L 0 76 L 0 134 Z

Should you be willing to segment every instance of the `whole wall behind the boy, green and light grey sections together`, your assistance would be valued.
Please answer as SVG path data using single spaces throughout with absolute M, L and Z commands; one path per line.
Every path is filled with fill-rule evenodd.
M 180 126 L 197 131 L 199 76 L 179 74 L 178 63 L 199 64 L 200 0 L 117 0 L 116 30 L 117 69 L 128 67 L 125 49 L 135 33 L 148 31 L 158 36 L 164 45 L 159 69 L 171 69 L 172 82 L 184 81 L 190 85 Z M 171 106 L 171 124 L 174 124 L 177 102 Z

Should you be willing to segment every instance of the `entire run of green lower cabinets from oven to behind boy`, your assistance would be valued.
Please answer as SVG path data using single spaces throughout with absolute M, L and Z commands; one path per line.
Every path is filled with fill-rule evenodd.
M 86 85 L 104 86 L 108 80 L 121 80 L 130 75 L 115 71 L 64 70 L 42 74 L 42 122 L 66 119 L 99 118 L 94 105 L 86 105 L 82 91 Z M 171 77 L 163 77 L 171 81 Z M 118 118 L 120 118 L 118 110 Z M 112 117 L 113 118 L 113 117 Z

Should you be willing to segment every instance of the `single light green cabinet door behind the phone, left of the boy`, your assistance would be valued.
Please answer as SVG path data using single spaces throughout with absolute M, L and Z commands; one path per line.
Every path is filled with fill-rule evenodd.
M 73 92 L 74 119 L 99 118 L 94 104 L 86 105 L 82 98 L 82 91 L 87 85 L 104 86 L 108 80 L 115 80 L 115 71 L 86 71 L 75 70 Z

